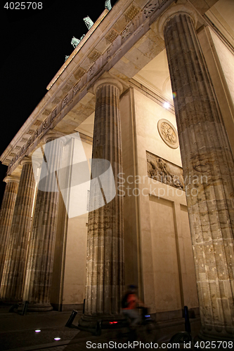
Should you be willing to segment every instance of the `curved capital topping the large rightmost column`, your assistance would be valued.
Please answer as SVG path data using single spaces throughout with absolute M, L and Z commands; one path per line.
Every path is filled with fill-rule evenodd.
M 167 22 L 169 21 L 169 19 L 171 17 L 174 17 L 176 15 L 188 15 L 190 16 L 190 18 L 192 18 L 193 20 L 193 25 L 196 28 L 197 26 L 197 13 L 195 11 L 195 9 L 190 5 L 190 4 L 186 4 L 186 5 L 175 5 L 175 6 L 171 6 L 170 8 L 167 9 L 167 11 L 165 11 L 162 16 L 160 17 L 160 20 L 158 21 L 158 32 L 160 34 L 160 37 L 164 40 L 164 27 L 167 24 Z

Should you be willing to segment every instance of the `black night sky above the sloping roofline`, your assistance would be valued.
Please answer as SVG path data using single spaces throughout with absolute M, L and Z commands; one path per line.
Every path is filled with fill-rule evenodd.
M 10 2 L 18 1 L 8 1 L 8 6 Z M 42 10 L 13 10 L 1 1 L 1 154 L 46 95 L 65 55 L 74 50 L 72 37 L 88 32 L 83 18 L 89 15 L 95 22 L 105 8 L 105 0 L 41 2 Z M 0 163 L 0 204 L 6 170 Z

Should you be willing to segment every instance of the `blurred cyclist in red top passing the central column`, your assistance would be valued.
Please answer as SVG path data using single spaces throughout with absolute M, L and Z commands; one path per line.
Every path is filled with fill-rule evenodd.
M 129 285 L 128 291 L 122 299 L 122 312 L 127 319 L 130 319 L 131 326 L 136 326 L 142 322 L 138 307 L 144 307 L 144 304 L 138 299 L 136 291 L 137 286 Z

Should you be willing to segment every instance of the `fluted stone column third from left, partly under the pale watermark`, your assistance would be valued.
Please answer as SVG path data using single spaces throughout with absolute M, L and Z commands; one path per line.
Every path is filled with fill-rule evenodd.
M 41 176 L 37 191 L 23 293 L 23 299 L 30 303 L 29 311 L 53 310 L 50 291 L 59 201 L 56 170 L 60 169 L 63 156 L 63 140 L 58 136 L 62 135 L 50 132 L 44 138 L 41 175 L 47 176 L 43 179 Z

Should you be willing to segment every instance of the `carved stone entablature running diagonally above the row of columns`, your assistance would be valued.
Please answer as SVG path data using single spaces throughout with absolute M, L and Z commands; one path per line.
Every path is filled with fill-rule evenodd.
M 103 72 L 111 71 L 117 79 L 124 80 L 126 84 L 142 68 L 142 63 L 137 67 L 136 63 L 132 62 L 135 70 L 129 73 L 129 77 L 122 73 L 121 68 L 115 69 L 129 49 L 148 33 L 150 25 L 169 6 L 174 6 L 173 3 L 174 0 L 122 0 L 119 1 L 118 6 L 112 8 L 110 13 L 106 9 L 103 11 L 58 74 L 48 84 L 48 93 L 1 155 L 1 162 L 8 165 L 8 174 L 14 171 L 25 154 L 30 154 L 37 147 L 41 137 L 49 128 L 55 128 L 84 98 Z M 200 11 L 200 8 L 197 10 Z M 92 40 L 89 40 L 90 37 Z M 159 48 L 162 44 L 160 40 L 162 41 L 157 39 Z M 145 58 L 143 65 L 146 65 L 147 60 L 152 59 L 146 55 L 143 57 Z M 122 62 L 119 66 L 121 65 Z

